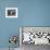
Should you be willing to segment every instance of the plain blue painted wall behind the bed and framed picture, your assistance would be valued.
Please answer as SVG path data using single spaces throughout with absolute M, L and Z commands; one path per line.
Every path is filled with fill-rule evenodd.
M 7 18 L 5 8 L 17 8 L 17 18 Z M 18 26 L 50 26 L 50 0 L 0 0 L 0 48 L 8 48 Z M 18 43 L 17 43 L 18 47 Z

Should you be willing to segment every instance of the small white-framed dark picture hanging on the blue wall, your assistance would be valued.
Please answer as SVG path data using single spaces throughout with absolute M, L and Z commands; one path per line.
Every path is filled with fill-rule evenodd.
M 5 8 L 5 17 L 17 17 L 17 8 Z

